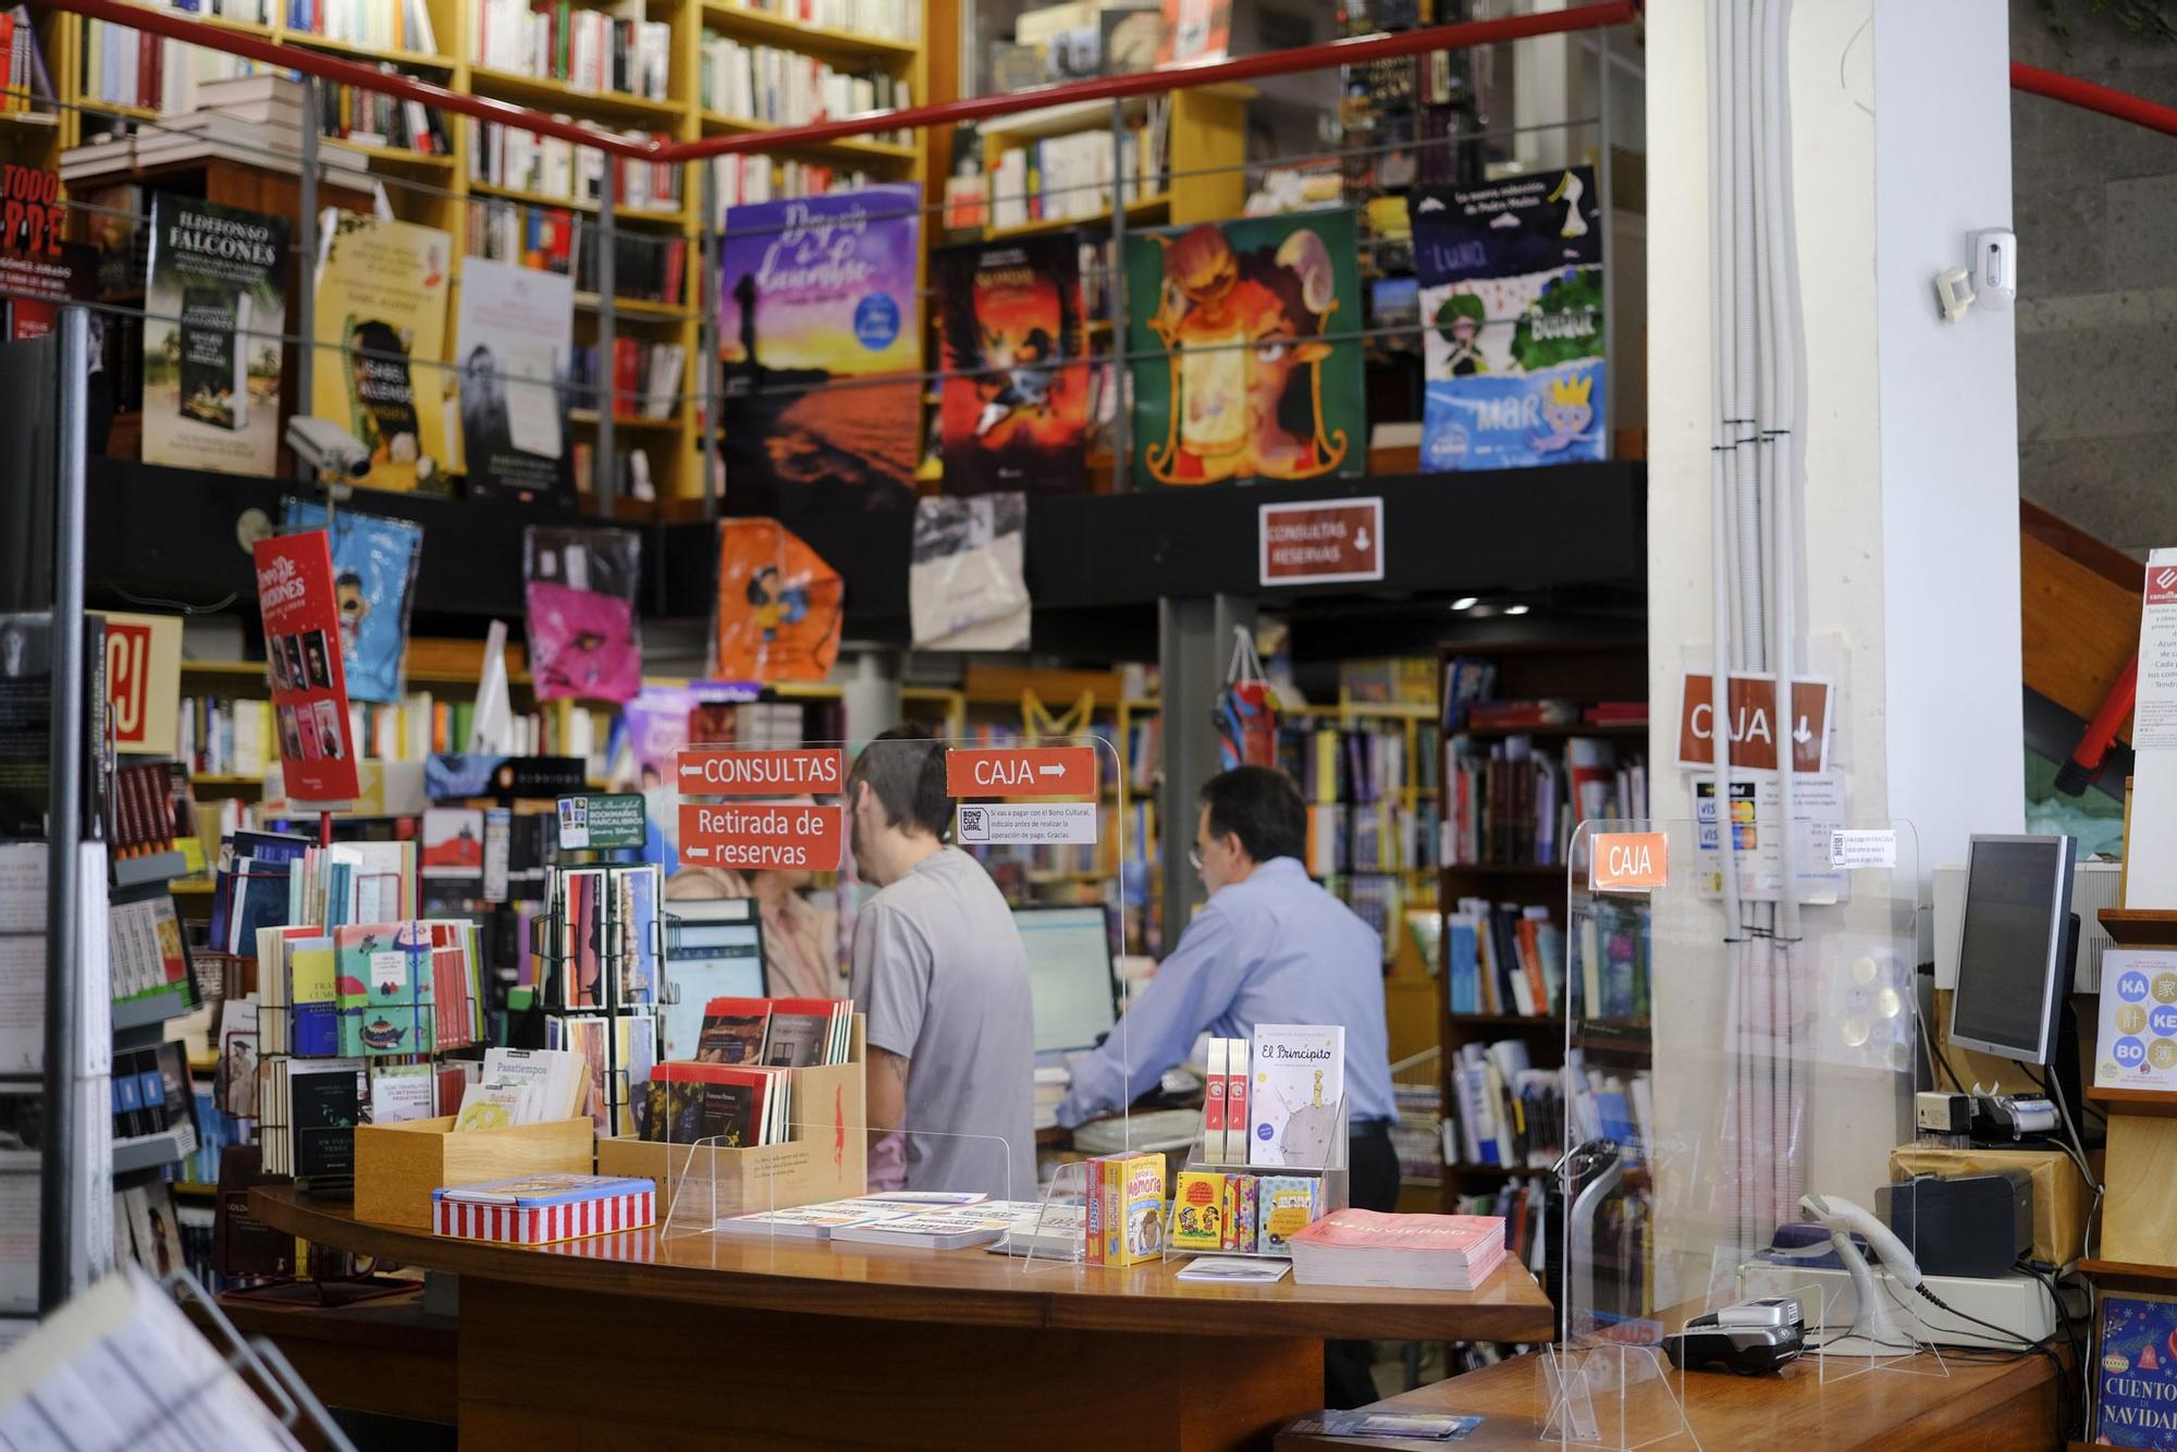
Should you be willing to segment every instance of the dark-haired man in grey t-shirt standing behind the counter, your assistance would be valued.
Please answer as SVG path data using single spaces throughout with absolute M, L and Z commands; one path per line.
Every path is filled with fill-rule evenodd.
M 880 890 L 853 919 L 853 1001 L 869 1014 L 869 1128 L 906 1130 L 906 1186 L 1036 1193 L 1028 953 L 997 884 L 945 845 L 945 747 L 877 736 L 847 779 L 853 862 Z M 1004 1141 L 1004 1143 L 999 1143 Z M 871 1189 L 897 1180 L 893 1145 Z

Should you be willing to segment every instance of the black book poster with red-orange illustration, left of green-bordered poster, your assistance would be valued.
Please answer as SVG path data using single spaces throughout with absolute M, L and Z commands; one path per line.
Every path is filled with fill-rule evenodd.
M 1032 237 L 930 257 L 945 346 L 938 442 L 947 494 L 1088 483 L 1080 242 Z

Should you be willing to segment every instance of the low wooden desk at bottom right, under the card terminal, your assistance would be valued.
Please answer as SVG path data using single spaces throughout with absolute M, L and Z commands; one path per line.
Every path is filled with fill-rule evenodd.
M 1931 1356 L 1918 1363 L 1933 1369 Z M 1822 1385 L 1803 1361 L 1783 1376 L 1702 1371 L 1685 1378 L 1685 1408 L 1702 1448 L 1805 1448 L 1807 1452 L 2049 1452 L 2064 1445 L 2055 1367 L 2046 1356 L 2009 1363 L 1951 1361 L 1948 1376 L 1870 1371 Z M 1513 1356 L 1493 1367 L 1432 1382 L 1378 1402 L 1380 1411 L 1472 1413 L 1485 1417 L 1461 1452 L 1533 1452 L 1541 1428 L 1541 1361 Z M 1282 1432 L 1278 1452 L 1348 1452 L 1415 1441 Z M 1557 1445 L 1554 1441 L 1548 1445 Z M 1652 1443 L 1692 1448 L 1689 1437 Z

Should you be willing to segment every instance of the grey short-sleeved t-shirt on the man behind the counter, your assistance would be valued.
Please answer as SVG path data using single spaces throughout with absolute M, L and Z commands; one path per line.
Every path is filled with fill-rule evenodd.
M 975 858 L 945 847 L 862 906 L 853 1001 L 869 1014 L 869 1047 L 910 1060 L 908 1189 L 1032 1199 L 1028 953 Z

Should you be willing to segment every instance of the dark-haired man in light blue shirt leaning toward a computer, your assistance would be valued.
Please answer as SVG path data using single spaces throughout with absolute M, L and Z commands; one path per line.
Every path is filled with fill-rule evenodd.
M 1210 899 L 1104 1047 L 1073 1062 L 1058 1123 L 1117 1112 L 1186 1060 L 1195 1038 L 1252 1038 L 1256 1023 L 1345 1025 L 1352 1204 L 1398 1208 L 1382 938 L 1308 879 L 1308 808 L 1282 771 L 1234 766 L 1202 788 L 1191 860 Z M 1365 1343 L 1332 1343 L 1330 1406 L 1376 1400 Z

